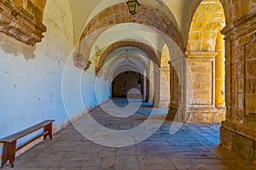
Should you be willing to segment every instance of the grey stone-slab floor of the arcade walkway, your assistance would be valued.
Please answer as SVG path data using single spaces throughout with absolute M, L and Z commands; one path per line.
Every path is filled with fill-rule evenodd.
M 124 106 L 121 100 L 115 102 Z M 133 116 L 115 119 L 98 107 L 90 115 L 102 126 L 123 130 L 144 122 L 150 110 L 144 105 Z M 14 170 L 256 169 L 218 145 L 220 124 L 183 124 L 172 135 L 171 125 L 172 122 L 164 122 L 142 143 L 115 148 L 91 142 L 70 124 L 55 133 L 53 140 L 44 141 L 18 156 Z M 4 169 L 9 169 L 9 165 Z

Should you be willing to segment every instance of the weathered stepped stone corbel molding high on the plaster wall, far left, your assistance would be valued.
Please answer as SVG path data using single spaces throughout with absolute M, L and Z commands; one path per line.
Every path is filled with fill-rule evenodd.
M 12 1 L 0 0 L 0 31 L 33 46 L 42 41 L 46 26 Z

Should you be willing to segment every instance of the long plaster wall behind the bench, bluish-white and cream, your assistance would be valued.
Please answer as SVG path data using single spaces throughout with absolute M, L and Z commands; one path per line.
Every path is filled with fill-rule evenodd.
M 34 48 L 0 35 L 0 138 L 46 119 L 55 120 L 55 130 L 68 122 L 61 94 L 62 72 L 73 50 L 73 18 L 68 1 L 47 1 L 44 25 L 47 26 L 45 37 Z M 82 82 L 93 87 L 94 79 L 95 76 L 85 73 Z M 108 99 L 108 84 L 102 81 L 101 87 L 106 90 L 100 101 L 93 91 L 82 86 L 88 107 Z M 72 85 L 70 82 L 67 86 Z M 72 113 L 76 114 L 79 110 Z M 18 144 L 25 140 L 20 139 Z

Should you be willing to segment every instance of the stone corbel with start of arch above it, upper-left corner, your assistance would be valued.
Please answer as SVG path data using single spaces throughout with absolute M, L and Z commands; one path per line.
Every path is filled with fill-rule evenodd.
M 0 31 L 28 45 L 41 42 L 45 0 L 1 0 Z

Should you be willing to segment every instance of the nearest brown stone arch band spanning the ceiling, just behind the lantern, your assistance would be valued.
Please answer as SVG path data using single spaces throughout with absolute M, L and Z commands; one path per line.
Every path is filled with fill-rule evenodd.
M 90 20 L 90 23 L 85 26 L 80 41 L 95 31 L 99 31 L 102 28 L 108 29 L 109 26 L 122 23 L 137 23 L 153 27 L 154 29 L 166 33 L 166 35 L 171 37 L 173 41 L 183 49 L 183 37 L 177 26 L 177 21 L 170 19 L 166 13 L 161 11 L 161 8 L 152 7 L 146 3 L 141 4 L 140 10 L 136 15 L 129 14 L 126 3 L 118 3 L 102 10 L 101 13 L 96 14 L 96 16 Z

